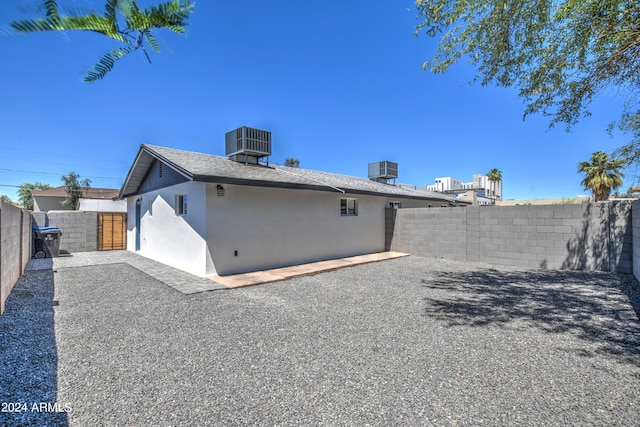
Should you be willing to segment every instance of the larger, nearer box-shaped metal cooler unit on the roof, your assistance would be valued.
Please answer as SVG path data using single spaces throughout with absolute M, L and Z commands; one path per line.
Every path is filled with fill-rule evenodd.
M 258 164 L 271 155 L 271 132 L 242 126 L 225 134 L 225 144 L 231 160 Z

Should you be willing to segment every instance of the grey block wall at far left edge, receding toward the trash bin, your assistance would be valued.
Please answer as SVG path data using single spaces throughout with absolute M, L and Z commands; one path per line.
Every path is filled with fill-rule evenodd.
M 31 216 L 0 201 L 0 314 L 31 258 Z

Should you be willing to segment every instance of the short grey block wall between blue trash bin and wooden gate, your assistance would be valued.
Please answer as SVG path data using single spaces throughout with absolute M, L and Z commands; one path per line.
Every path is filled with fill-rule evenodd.
M 98 213 L 84 211 L 33 212 L 36 227 L 56 226 L 62 231 L 60 251 L 98 250 Z

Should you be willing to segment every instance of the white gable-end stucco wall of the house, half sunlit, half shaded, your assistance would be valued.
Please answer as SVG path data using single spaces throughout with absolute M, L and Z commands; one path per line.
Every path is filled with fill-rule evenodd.
M 186 215 L 176 215 L 175 195 L 187 194 Z M 186 182 L 127 199 L 127 249 L 135 252 L 136 200 L 141 199 L 140 255 L 206 276 L 214 274 L 206 260 L 206 184 Z M 152 212 L 149 212 L 152 201 Z M 209 267 L 209 271 L 207 271 Z

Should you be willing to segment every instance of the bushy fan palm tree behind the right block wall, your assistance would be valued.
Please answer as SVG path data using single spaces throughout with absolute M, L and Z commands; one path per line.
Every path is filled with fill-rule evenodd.
M 587 176 L 581 184 L 585 190 L 591 190 L 596 202 L 608 200 L 611 189 L 622 185 L 624 174 L 621 168 L 625 165 L 624 159 L 611 159 L 603 151 L 596 151 L 591 155 L 591 163 L 578 163 L 578 172 Z

